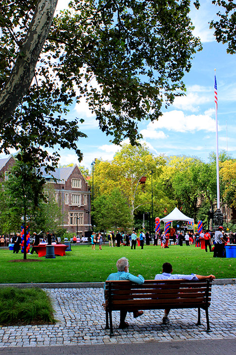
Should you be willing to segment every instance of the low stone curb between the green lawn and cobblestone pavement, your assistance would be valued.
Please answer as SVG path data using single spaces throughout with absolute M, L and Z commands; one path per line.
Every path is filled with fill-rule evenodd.
M 218 278 L 212 281 L 212 285 L 234 285 L 235 278 Z M 40 289 L 84 289 L 84 288 L 103 288 L 104 282 L 65 282 L 65 283 L 0 283 L 3 287 L 18 287 L 27 289 L 39 287 Z

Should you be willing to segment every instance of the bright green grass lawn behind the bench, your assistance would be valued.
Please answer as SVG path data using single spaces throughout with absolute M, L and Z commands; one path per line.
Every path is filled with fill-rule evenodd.
M 72 244 L 72 252 L 66 252 L 64 257 L 27 256 L 27 259 L 39 262 L 13 262 L 22 260 L 23 255 L 0 250 L 0 283 L 104 281 L 111 272 L 116 272 L 116 261 L 121 257 L 129 259 L 129 272 L 141 274 L 145 279 L 153 279 L 156 273 L 160 273 L 164 262 L 172 264 L 174 273 L 236 277 L 236 258 L 213 258 L 213 253 L 206 253 L 195 246 L 171 245 L 161 249 L 159 245 L 145 245 L 143 250 L 140 247 L 131 250 L 127 246 L 112 248 L 105 245 L 100 251 L 96 245 L 96 250 L 92 251 L 90 245 Z

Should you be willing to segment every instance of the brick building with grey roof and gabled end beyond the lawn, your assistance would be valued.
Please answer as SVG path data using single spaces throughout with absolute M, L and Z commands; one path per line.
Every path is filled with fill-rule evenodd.
M 86 231 L 91 230 L 91 193 L 78 166 L 57 168 L 50 174 L 44 173 L 44 177 L 54 188 L 55 200 L 64 216 L 63 228 L 80 236 L 85 235 Z

